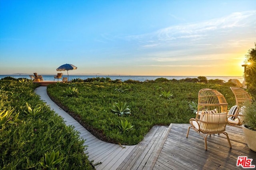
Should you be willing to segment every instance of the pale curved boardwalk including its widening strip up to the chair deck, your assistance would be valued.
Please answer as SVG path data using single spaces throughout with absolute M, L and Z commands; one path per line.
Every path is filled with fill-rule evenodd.
M 47 86 L 40 86 L 35 89 L 35 93 L 41 96 L 41 100 L 46 102 L 52 110 L 63 117 L 66 125 L 73 125 L 74 129 L 80 132 L 80 137 L 86 140 L 84 145 L 88 146 L 85 152 L 88 152 L 89 160 L 94 160 L 94 163 L 102 162 L 95 167 L 97 170 L 120 169 L 122 168 L 121 164 L 124 164 L 127 160 L 133 162 L 137 167 L 144 167 L 147 162 L 150 162 L 154 166 L 160 150 L 164 145 L 165 136 L 170 131 L 170 127 L 154 126 L 138 145 L 120 146 L 107 143 L 97 139 L 73 117 L 56 105 L 50 99 L 46 90 Z M 128 164 L 130 165 L 130 163 Z

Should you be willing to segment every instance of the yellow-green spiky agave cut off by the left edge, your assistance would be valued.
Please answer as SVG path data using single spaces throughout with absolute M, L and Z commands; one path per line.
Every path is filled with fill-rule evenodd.
M 13 111 L 14 109 L 11 111 L 5 111 L 4 109 L 0 112 L 0 126 L 4 125 L 5 123 L 14 124 L 20 121 L 20 119 L 18 119 L 19 113 L 14 114 Z

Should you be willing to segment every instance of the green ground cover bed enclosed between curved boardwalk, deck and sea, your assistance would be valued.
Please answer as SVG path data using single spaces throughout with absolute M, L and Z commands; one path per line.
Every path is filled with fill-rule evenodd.
M 235 105 L 235 97 L 230 90 L 234 84 L 215 84 L 204 80 L 194 83 L 195 79 L 156 81 L 89 81 L 66 84 L 51 84 L 47 88 L 48 95 L 60 107 L 77 119 L 88 131 L 101 140 L 122 144 L 136 145 L 154 125 L 170 125 L 170 123 L 188 123 L 195 117 L 188 102 L 198 102 L 198 91 L 212 88 L 221 92 L 228 101 L 229 107 Z M 219 81 L 217 81 L 219 82 Z M 223 81 L 222 81 L 223 83 Z M 129 87 L 116 90 L 118 87 Z M 63 90 L 76 87 L 77 96 L 66 97 Z M 162 92 L 169 96 L 163 98 Z M 113 104 L 126 103 L 130 114 L 113 114 Z M 127 107 L 125 107 L 127 108 Z M 123 128 L 122 128 L 123 122 Z M 126 125 L 132 126 L 125 130 Z

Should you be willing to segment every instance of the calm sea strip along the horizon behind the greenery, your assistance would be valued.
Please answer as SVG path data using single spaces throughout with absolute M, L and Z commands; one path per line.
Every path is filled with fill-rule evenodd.
M 11 76 L 13 78 L 28 78 L 30 79 L 30 77 L 28 75 L 0 75 L 0 79 L 7 77 L 7 76 Z M 54 75 L 42 75 L 44 78 L 44 81 L 53 81 L 54 80 Z M 64 75 L 62 77 L 68 77 L 67 75 Z M 70 75 L 69 76 L 69 80 L 72 79 L 76 79 L 76 78 L 81 78 L 82 80 L 85 80 L 87 78 L 93 78 L 93 77 L 109 77 L 111 78 L 111 80 L 116 80 L 116 79 L 120 79 L 122 81 L 125 80 L 138 80 L 140 82 L 144 82 L 145 80 L 156 80 L 156 78 L 167 78 L 168 80 L 172 80 L 172 79 L 176 79 L 176 80 L 180 80 L 183 78 L 197 78 L 198 76 L 99 76 L 99 75 L 95 75 L 95 76 L 75 76 L 75 75 Z M 242 76 L 206 76 L 206 78 L 208 80 L 210 79 L 220 79 L 220 80 L 224 80 L 225 82 L 227 82 L 230 79 L 238 79 L 240 82 L 244 81 L 244 78 Z

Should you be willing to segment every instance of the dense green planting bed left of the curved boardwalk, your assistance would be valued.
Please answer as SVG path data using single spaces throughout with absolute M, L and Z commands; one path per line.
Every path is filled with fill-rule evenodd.
M 0 80 L 0 169 L 94 169 L 78 132 L 40 100 L 37 86 Z

